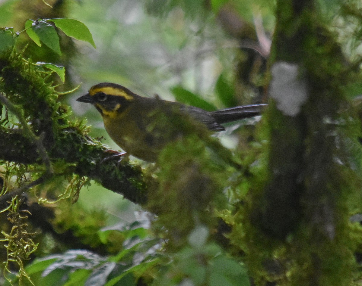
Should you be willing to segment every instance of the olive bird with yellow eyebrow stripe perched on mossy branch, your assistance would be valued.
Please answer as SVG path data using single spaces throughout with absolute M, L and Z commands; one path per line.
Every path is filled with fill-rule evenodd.
M 170 142 L 190 132 L 225 130 L 223 123 L 260 115 L 267 104 L 251 104 L 216 111 L 143 97 L 116 83 L 90 87 L 76 101 L 93 104 L 110 138 L 129 155 L 155 162 Z

